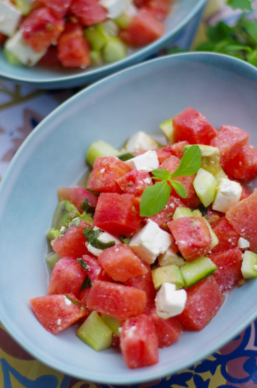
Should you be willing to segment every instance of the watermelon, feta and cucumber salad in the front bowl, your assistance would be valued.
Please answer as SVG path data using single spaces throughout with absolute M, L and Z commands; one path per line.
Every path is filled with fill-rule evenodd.
M 202 330 L 229 290 L 257 276 L 248 133 L 191 107 L 160 128 L 164 146 L 144 132 L 122 150 L 90 146 L 87 185 L 58 189 L 47 294 L 30 299 L 47 331 L 76 324 L 94 350 L 120 348 L 129 368 L 156 364 L 159 348 Z

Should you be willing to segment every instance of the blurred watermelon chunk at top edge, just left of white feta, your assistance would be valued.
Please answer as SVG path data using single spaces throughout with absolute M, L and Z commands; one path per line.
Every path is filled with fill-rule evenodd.
M 107 19 L 106 9 L 97 0 L 72 0 L 69 10 L 84 26 L 102 23 Z

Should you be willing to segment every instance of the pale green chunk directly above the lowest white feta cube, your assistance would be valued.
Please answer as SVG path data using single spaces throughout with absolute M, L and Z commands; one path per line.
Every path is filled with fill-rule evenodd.
M 177 290 L 184 286 L 181 270 L 177 265 L 167 265 L 166 267 L 153 269 L 152 278 L 156 291 L 160 289 L 163 283 L 173 283 Z

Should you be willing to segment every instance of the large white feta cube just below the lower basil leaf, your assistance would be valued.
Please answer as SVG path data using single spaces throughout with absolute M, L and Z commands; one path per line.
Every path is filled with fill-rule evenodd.
M 168 249 L 172 241 L 170 233 L 148 218 L 146 225 L 134 234 L 128 245 L 142 260 L 152 264 L 160 253 Z

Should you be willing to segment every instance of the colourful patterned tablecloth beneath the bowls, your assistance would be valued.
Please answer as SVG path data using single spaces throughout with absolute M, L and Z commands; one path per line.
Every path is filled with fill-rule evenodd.
M 201 16 L 194 44 L 203 39 L 205 23 L 226 16 L 229 12 L 229 7 L 224 7 L 224 0 L 210 0 Z M 191 33 L 194 30 L 195 24 L 192 24 Z M 177 42 L 181 47 L 188 45 L 188 35 L 181 34 Z M 40 120 L 75 92 L 76 89 L 34 90 L 0 80 L 0 176 L 3 176 L 18 147 Z M 140 387 L 257 387 L 256 330 L 257 320 L 207 359 L 175 375 L 141 384 Z M 0 388 L 101 388 L 99 384 L 71 378 L 33 359 L 2 326 L 0 364 Z

